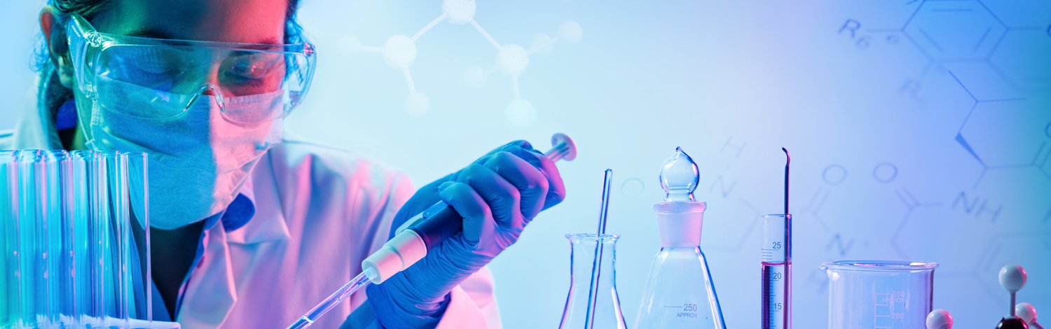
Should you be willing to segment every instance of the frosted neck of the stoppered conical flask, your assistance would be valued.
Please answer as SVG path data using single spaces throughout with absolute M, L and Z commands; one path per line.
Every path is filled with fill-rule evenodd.
M 661 248 L 700 246 L 706 207 L 703 202 L 662 202 L 654 205 Z

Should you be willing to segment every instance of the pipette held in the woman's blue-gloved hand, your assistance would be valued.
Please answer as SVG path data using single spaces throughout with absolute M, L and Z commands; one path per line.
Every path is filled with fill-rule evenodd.
M 544 157 L 552 162 L 573 161 L 577 158 L 577 145 L 565 133 L 558 132 L 552 136 L 551 145 L 552 148 L 544 153 Z M 445 202 L 435 203 L 398 227 L 394 238 L 379 247 L 379 250 L 366 258 L 362 262 L 360 274 L 351 279 L 350 282 L 314 306 L 309 312 L 303 314 L 288 328 L 309 327 L 318 317 L 325 315 L 370 282 L 382 284 L 391 275 L 416 264 L 427 255 L 428 250 L 459 231 L 462 220 L 462 217 Z

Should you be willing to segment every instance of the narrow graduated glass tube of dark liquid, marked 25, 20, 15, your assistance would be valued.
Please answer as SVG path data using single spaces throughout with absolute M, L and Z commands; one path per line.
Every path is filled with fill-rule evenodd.
M 763 215 L 762 328 L 791 328 L 791 214 Z

